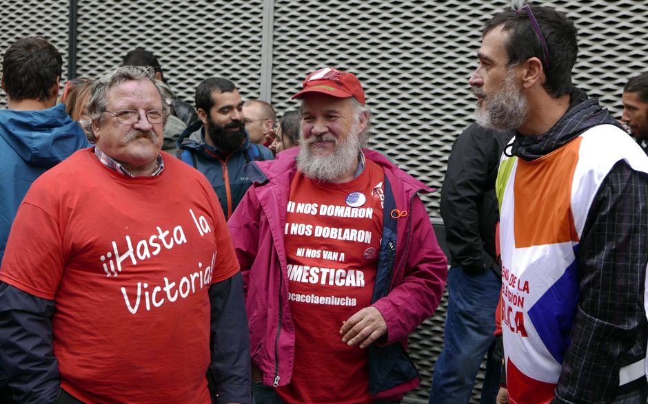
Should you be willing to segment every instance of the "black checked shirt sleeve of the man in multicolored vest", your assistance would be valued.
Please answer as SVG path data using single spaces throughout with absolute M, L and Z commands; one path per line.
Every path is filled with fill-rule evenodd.
M 608 403 L 619 369 L 645 357 L 648 175 L 618 162 L 601 185 L 580 240 L 580 297 L 555 403 Z

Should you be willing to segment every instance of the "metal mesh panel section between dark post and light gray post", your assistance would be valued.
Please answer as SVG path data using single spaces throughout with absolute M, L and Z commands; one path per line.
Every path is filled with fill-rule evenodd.
M 154 52 L 169 85 L 192 105 L 196 85 L 212 76 L 232 80 L 244 98 L 259 97 L 263 0 L 80 3 L 78 76 L 97 78 L 139 46 Z

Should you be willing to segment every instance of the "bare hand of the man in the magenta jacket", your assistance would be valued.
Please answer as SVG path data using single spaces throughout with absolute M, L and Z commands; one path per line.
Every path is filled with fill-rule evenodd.
M 360 344 L 364 349 L 387 332 L 383 315 L 373 306 L 365 307 L 349 317 L 340 329 L 342 342 L 349 346 Z

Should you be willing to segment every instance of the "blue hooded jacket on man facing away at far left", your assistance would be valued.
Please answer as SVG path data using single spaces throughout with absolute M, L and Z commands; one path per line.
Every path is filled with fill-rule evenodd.
M 88 146 L 65 105 L 41 111 L 0 111 L 0 261 L 16 211 L 32 182 Z

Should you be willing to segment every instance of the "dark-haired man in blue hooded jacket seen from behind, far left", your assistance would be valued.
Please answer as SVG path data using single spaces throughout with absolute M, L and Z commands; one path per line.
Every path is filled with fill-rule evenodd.
M 40 36 L 19 39 L 3 56 L 2 89 L 9 109 L 0 111 L 0 260 L 32 182 L 88 145 L 65 105 L 56 105 L 62 64 L 54 45 Z M 0 368 L 0 400 L 8 395 Z

